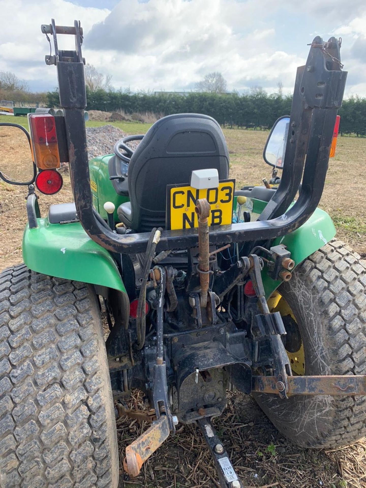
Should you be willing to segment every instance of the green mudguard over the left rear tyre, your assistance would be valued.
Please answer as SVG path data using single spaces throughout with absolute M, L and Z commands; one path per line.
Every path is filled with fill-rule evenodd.
M 24 263 L 33 271 L 66 280 L 107 286 L 126 293 L 120 272 L 110 253 L 92 241 L 79 222 L 25 227 Z

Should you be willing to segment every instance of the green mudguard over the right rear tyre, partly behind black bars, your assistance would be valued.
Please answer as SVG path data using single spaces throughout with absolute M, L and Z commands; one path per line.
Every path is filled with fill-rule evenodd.
M 252 220 L 256 220 L 266 204 L 267 202 L 262 200 L 248 198 L 243 208 L 252 213 Z M 327 244 L 335 235 L 336 229 L 332 219 L 324 210 L 317 208 L 305 224 L 290 234 L 278 237 L 272 245 L 284 244 L 291 252 L 291 259 L 295 261 L 295 266 L 297 266 L 313 252 Z M 282 283 L 272 280 L 267 275 L 265 267 L 262 279 L 267 297 Z

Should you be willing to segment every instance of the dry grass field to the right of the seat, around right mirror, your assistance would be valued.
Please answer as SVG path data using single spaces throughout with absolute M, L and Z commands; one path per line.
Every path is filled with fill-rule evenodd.
M 230 173 L 236 188 L 262 184 L 271 176 L 271 166 L 263 162 L 266 131 L 224 129 L 230 153 Z M 366 139 L 339 137 L 335 158 L 329 169 L 320 207 L 332 217 L 337 236 L 366 256 Z

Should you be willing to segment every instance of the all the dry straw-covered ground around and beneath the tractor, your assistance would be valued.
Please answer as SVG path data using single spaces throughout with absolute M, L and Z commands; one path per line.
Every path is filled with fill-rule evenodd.
M 130 133 L 135 132 L 133 127 L 131 124 Z M 268 179 L 271 169 L 262 159 L 267 133 L 230 129 L 225 129 L 224 133 L 230 152 L 230 173 L 237 179 L 236 187 L 261 183 L 263 177 Z M 14 153 L 17 148 L 16 139 L 0 133 L 0 170 L 9 176 L 25 175 L 24 166 L 29 164 L 29 159 L 22 159 L 19 151 Z M 364 256 L 365 153 L 366 139 L 339 138 L 336 157 L 329 164 L 320 204 L 332 216 L 338 236 Z M 67 174 L 63 176 L 64 185 L 60 193 L 52 197 L 40 195 L 42 215 L 46 214 L 51 203 L 72 200 L 69 178 Z M 25 187 L 0 182 L 0 269 L 22 260 L 26 195 Z M 135 406 L 142 401 L 138 393 L 136 395 L 131 401 Z M 228 406 L 214 424 L 244 487 L 366 487 L 365 439 L 344 448 L 321 451 L 301 449 L 276 431 L 251 397 L 239 393 L 228 393 L 228 396 Z M 139 425 L 126 417 L 118 419 L 121 460 L 124 448 L 145 428 L 146 425 Z M 178 426 L 177 435 L 163 444 L 144 464 L 142 474 L 137 479 L 129 480 L 121 472 L 121 487 L 215 488 L 219 484 L 198 427 Z

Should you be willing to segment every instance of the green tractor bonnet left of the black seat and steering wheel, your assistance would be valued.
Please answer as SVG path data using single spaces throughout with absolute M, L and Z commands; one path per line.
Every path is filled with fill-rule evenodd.
M 113 154 L 108 154 L 89 161 L 90 187 L 93 206 L 100 216 L 107 220 L 107 212 L 104 210 L 103 205 L 105 202 L 113 202 L 116 207 L 113 215 L 114 221 L 120 222 L 117 208 L 121 203 L 128 202 L 129 198 L 118 195 L 109 179 L 108 162 L 112 156 Z

